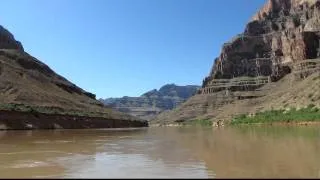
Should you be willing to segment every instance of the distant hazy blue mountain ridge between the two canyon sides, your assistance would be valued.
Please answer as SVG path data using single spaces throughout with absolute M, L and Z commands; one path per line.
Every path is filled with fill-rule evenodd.
M 155 115 L 172 110 L 196 94 L 200 86 L 178 86 L 166 84 L 159 90 L 153 89 L 140 97 L 107 98 L 100 99 L 106 106 L 117 109 L 142 119 L 150 120 Z

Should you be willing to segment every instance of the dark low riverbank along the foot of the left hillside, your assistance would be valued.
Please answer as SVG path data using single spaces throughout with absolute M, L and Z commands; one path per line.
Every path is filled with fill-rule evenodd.
M 1 130 L 106 129 L 149 127 L 147 121 L 0 110 Z

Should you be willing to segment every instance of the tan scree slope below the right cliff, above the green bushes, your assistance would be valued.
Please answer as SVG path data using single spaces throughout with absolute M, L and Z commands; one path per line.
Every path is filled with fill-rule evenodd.
M 278 82 L 259 88 L 264 96 L 226 102 L 217 98 L 219 95 L 224 97 L 223 93 L 196 95 L 173 111 L 160 114 L 152 123 L 170 124 L 194 119 L 229 121 L 236 115 L 271 109 L 302 108 L 310 104 L 320 107 L 319 87 L 319 73 L 314 73 L 304 80 L 294 80 L 293 75 L 289 74 Z

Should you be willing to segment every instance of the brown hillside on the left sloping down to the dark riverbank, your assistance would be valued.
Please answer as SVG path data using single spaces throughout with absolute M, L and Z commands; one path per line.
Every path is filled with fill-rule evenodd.
M 0 26 L 0 110 L 17 110 L 17 105 L 40 109 L 40 113 L 74 111 L 85 115 L 95 113 L 107 119 L 138 119 L 104 107 L 94 94 L 26 53 L 21 43 Z

